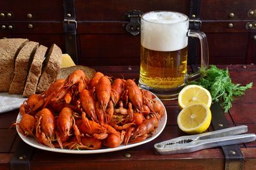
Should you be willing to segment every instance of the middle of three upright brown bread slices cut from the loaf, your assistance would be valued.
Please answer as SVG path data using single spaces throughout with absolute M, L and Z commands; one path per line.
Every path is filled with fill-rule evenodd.
M 40 45 L 39 48 L 37 48 L 34 59 L 31 62 L 31 66 L 29 69 L 29 73 L 28 73 L 26 84 L 23 91 L 23 96 L 28 97 L 32 94 L 35 94 L 36 86 L 37 86 L 39 77 L 42 73 L 42 64 L 43 64 L 46 52 L 47 52 L 47 47 L 44 45 Z

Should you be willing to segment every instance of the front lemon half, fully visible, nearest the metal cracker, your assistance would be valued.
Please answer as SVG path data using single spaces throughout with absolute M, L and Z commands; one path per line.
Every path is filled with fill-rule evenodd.
M 199 134 L 211 124 L 211 110 L 204 103 L 191 104 L 182 109 L 178 115 L 179 128 L 188 134 Z

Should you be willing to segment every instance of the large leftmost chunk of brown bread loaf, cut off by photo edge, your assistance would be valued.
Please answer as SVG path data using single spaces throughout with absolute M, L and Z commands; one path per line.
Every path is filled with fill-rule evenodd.
M 15 58 L 28 39 L 0 39 L 0 92 L 8 92 L 13 78 Z

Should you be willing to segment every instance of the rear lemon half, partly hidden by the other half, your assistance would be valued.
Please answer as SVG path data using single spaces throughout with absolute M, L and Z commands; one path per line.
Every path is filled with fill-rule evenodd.
M 212 97 L 210 92 L 200 85 L 187 85 L 179 92 L 178 101 L 180 108 L 194 103 L 204 103 L 210 108 Z

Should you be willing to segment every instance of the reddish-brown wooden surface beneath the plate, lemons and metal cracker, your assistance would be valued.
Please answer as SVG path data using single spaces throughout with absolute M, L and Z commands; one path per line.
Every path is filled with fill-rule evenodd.
M 225 68 L 226 66 L 220 66 Z M 102 66 L 93 67 L 96 71 L 115 78 L 136 78 L 138 80 L 138 66 Z M 225 113 L 228 124 L 248 125 L 249 133 L 256 133 L 256 66 L 241 65 L 228 66 L 230 76 L 236 83 L 250 83 L 252 89 L 234 101 L 232 109 Z M 177 126 L 179 107 L 177 100 L 163 102 L 168 115 L 164 131 L 153 141 L 141 146 L 109 153 L 97 154 L 67 154 L 54 153 L 35 149 L 31 158 L 33 169 L 224 169 L 225 157 L 221 148 L 211 148 L 194 153 L 175 155 L 156 155 L 154 143 L 185 135 Z M 15 129 L 9 129 L 16 120 L 19 110 L 2 113 L 0 115 L 0 169 L 9 169 L 10 158 L 15 152 L 20 138 Z M 214 115 L 213 115 L 214 116 Z M 212 131 L 212 127 L 209 127 Z M 244 169 L 256 169 L 256 141 L 239 145 L 244 155 Z M 131 157 L 125 157 L 130 153 Z

